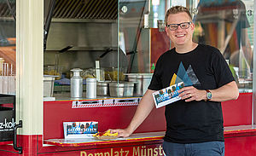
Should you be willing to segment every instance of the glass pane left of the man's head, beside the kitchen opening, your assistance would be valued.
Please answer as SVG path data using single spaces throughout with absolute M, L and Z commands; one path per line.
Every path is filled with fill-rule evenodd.
M 125 72 L 153 72 L 159 56 L 170 48 L 164 26 L 166 6 L 166 0 L 119 1 L 119 65 L 125 66 Z M 123 59 L 127 65 L 121 64 Z

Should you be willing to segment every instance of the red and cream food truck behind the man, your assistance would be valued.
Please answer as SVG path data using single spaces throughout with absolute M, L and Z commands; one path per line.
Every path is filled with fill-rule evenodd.
M 165 107 L 127 138 L 92 135 L 130 123 L 156 61 L 173 47 L 164 20 L 175 5 L 190 10 L 195 42 L 221 51 L 239 87 L 236 101 L 222 102 L 225 155 L 256 153 L 255 1 L 7 0 L 0 155 L 164 155 Z M 68 137 L 86 129 L 92 135 Z

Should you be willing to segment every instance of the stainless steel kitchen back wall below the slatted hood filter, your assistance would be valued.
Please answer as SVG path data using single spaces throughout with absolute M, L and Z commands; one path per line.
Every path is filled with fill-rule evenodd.
M 63 72 L 73 68 L 95 67 L 95 61 L 105 50 L 111 48 L 115 53 L 109 57 L 109 62 L 117 67 L 117 26 L 116 22 L 55 22 L 49 28 L 47 48 L 44 53 L 44 65 L 55 64 L 55 53 L 73 46 L 67 52 L 60 54 L 59 66 L 64 66 Z M 115 59 L 112 61 L 111 59 Z M 109 66 L 109 67 L 110 67 Z

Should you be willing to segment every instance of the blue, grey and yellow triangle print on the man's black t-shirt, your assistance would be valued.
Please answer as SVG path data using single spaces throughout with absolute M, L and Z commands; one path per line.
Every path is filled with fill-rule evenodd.
M 183 82 L 184 86 L 191 86 L 195 84 L 200 84 L 198 78 L 195 75 L 195 72 L 193 71 L 193 68 L 191 65 L 189 65 L 187 71 L 185 70 L 183 66 L 183 62 L 181 61 L 178 70 L 177 70 L 177 75 L 174 73 L 172 76 L 172 80 L 170 83 L 170 86 L 173 84 L 177 84 Z

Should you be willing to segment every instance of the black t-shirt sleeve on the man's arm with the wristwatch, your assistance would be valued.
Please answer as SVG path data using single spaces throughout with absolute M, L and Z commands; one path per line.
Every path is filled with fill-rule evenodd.
M 215 49 L 212 52 L 211 67 L 212 72 L 214 72 L 214 77 L 218 88 L 224 84 L 229 84 L 230 82 L 235 81 L 229 65 L 224 60 L 224 56 L 218 49 Z

